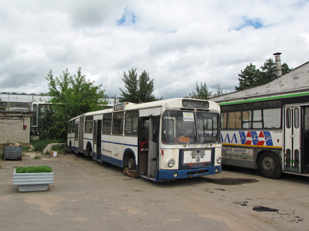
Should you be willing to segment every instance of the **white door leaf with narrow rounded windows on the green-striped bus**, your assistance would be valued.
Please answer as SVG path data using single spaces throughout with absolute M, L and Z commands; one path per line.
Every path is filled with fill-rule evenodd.
M 301 169 L 301 124 L 300 106 L 287 106 L 284 109 L 284 161 L 283 169 L 300 173 Z

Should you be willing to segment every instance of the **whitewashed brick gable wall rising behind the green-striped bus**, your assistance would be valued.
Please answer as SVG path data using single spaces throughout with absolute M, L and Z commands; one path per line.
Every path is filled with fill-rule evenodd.
M 264 85 L 220 95 L 210 98 L 210 100 L 224 102 L 244 98 L 259 98 L 265 96 L 263 94 L 281 95 L 302 91 L 309 91 L 309 62 Z

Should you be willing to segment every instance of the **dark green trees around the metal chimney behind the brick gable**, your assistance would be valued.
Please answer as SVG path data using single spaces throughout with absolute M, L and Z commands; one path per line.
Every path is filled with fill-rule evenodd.
M 293 68 L 290 69 L 286 63 L 281 65 L 282 75 L 292 69 Z M 239 87 L 235 86 L 235 90 L 241 91 L 250 87 L 256 87 L 265 83 L 269 83 L 270 81 L 277 78 L 276 70 L 276 63 L 272 58 L 267 59 L 264 65 L 260 67 L 260 69 L 256 69 L 256 66 L 250 63 L 244 70 L 240 71 L 241 74 L 238 74 L 240 77 L 238 78 Z

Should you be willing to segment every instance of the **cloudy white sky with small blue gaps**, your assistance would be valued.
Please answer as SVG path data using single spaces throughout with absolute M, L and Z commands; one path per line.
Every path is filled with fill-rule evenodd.
M 110 97 L 131 68 L 154 79 L 156 97 L 184 97 L 196 81 L 229 93 L 250 62 L 309 61 L 308 0 L 0 3 L 0 92 L 48 92 L 49 70 L 81 67 Z

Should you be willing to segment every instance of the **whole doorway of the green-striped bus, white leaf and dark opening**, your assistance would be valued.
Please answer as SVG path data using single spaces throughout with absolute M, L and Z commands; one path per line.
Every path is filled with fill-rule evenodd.
M 284 171 L 309 173 L 309 107 L 288 105 L 284 110 Z

